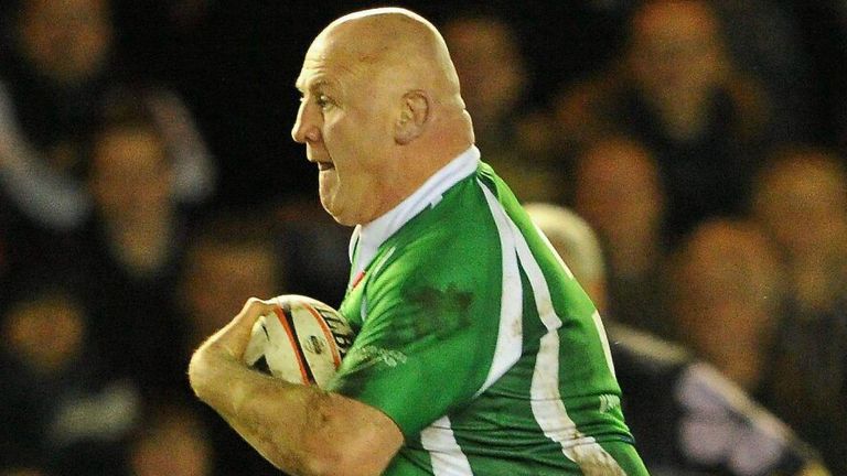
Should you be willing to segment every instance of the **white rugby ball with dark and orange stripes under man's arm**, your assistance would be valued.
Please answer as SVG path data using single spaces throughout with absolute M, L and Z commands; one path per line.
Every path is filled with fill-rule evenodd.
M 259 316 L 244 353 L 251 368 L 292 383 L 324 386 L 353 344 L 347 321 L 312 298 L 283 294 Z

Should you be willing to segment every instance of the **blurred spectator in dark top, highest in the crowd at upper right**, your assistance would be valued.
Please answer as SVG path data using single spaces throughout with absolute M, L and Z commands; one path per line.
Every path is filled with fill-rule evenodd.
M 629 28 L 621 61 L 565 91 L 558 123 L 577 143 L 623 131 L 654 151 L 673 245 L 699 220 L 741 210 L 769 106 L 733 67 L 707 1 L 646 1 Z

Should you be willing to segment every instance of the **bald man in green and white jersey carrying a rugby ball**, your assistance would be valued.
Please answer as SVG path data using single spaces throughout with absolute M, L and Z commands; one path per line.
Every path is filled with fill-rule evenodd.
M 292 136 L 355 226 L 325 389 L 248 370 L 269 302 L 195 353 L 197 396 L 298 475 L 646 475 L 592 303 L 481 162 L 443 39 L 406 10 L 343 17 L 309 48 Z

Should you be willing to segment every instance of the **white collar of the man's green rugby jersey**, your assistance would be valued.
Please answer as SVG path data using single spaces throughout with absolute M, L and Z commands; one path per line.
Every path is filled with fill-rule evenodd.
M 396 207 L 375 220 L 356 225 L 350 239 L 350 261 L 353 263 L 353 252 L 358 242 L 358 256 L 354 273 L 364 270 L 376 256 L 376 250 L 395 231 L 418 215 L 427 206 L 433 207 L 441 202 L 442 194 L 472 174 L 480 161 L 480 150 L 475 145 L 462 152 L 438 172 L 432 174 L 415 193 L 400 202 Z

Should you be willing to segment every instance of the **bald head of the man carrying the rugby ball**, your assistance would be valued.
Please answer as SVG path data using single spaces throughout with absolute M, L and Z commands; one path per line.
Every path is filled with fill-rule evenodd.
M 321 202 L 344 225 L 394 208 L 473 144 L 441 34 L 408 10 L 365 10 L 315 37 L 292 129 L 318 164 Z

